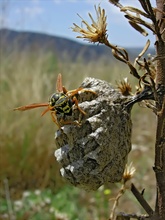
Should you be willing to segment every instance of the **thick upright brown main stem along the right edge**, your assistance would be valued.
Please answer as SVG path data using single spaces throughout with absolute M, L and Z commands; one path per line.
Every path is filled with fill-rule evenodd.
M 157 77 L 156 77 L 156 89 L 157 93 L 157 131 L 156 131 L 156 143 L 155 143 L 155 175 L 157 181 L 157 199 L 155 212 L 161 220 L 165 219 L 165 59 L 159 59 L 159 57 L 165 56 L 165 22 L 164 14 L 165 5 L 164 0 L 156 0 L 157 13 L 156 20 L 159 24 L 156 39 L 156 56 L 157 59 Z

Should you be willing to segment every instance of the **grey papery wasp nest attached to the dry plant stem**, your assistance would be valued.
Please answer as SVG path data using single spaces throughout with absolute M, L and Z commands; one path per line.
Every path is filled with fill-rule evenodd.
M 77 95 L 79 106 L 68 120 L 81 126 L 64 125 L 55 134 L 55 157 L 61 164 L 61 175 L 74 186 L 96 190 L 108 182 L 122 179 L 127 156 L 131 150 L 130 109 L 124 108 L 124 97 L 109 83 L 86 78 L 80 87 L 95 91 Z

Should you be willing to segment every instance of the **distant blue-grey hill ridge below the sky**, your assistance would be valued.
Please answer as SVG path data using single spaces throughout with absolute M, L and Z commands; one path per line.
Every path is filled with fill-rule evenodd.
M 59 59 L 70 59 L 76 61 L 81 58 L 85 61 L 98 60 L 104 58 L 112 59 L 111 50 L 104 45 L 80 44 L 76 41 L 62 37 L 51 36 L 48 34 L 14 31 L 9 29 L 0 29 L 0 43 L 3 52 L 10 53 L 17 51 L 51 51 Z M 129 55 L 134 59 L 142 48 L 126 48 Z M 154 54 L 154 49 L 148 50 L 147 53 Z

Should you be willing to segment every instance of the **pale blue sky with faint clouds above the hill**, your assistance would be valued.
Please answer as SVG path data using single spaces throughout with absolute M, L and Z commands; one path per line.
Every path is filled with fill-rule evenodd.
M 138 0 L 121 0 L 123 5 L 140 7 Z M 155 0 L 151 0 L 155 6 Z M 88 13 L 95 18 L 94 5 L 104 8 L 107 14 L 108 39 L 111 43 L 124 47 L 143 47 L 148 39 L 151 46 L 155 36 L 147 37 L 135 31 L 119 8 L 108 0 L 0 0 L 0 26 L 21 31 L 32 31 L 60 36 L 84 43 L 77 39 L 77 33 L 70 27 L 73 23 L 81 26 L 81 18 L 91 24 Z

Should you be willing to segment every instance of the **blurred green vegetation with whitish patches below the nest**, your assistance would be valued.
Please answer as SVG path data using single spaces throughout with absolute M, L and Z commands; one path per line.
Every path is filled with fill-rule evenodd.
M 94 216 L 108 217 L 108 197 L 103 190 L 86 193 L 71 186 L 65 186 L 53 194 L 50 189 L 24 191 L 19 200 L 12 203 L 12 215 L 17 219 L 93 219 Z M 74 202 L 72 202 L 74 201 Z M 101 203 L 101 206 L 100 206 Z M 86 205 L 84 205 L 86 204 Z M 81 210 L 81 211 L 80 211 Z M 1 213 L 7 213 L 6 200 L 1 201 Z M 1 215 L 6 216 L 6 214 Z M 5 218 L 4 218 L 5 219 Z

